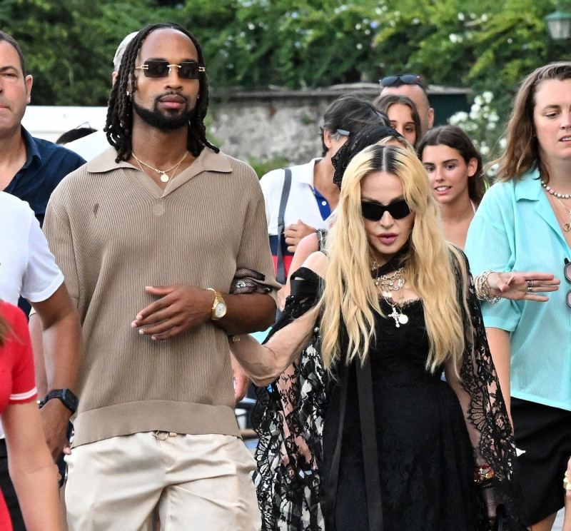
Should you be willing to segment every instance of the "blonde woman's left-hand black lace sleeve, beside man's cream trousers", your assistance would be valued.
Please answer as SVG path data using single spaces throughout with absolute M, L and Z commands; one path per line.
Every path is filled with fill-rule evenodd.
M 268 336 L 315 305 L 319 277 L 300 268 L 292 294 Z M 259 435 L 253 480 L 264 531 L 321 531 L 323 457 L 321 435 L 327 406 L 327 373 L 318 353 L 317 328 L 298 363 L 267 388 L 258 388 L 252 423 Z

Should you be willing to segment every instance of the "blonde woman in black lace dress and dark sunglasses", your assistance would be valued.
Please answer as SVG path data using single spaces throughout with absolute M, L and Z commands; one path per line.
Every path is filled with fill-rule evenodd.
M 487 530 L 499 502 L 520 529 L 510 420 L 467 262 L 440 233 L 413 153 L 370 146 L 353 158 L 326 254 L 294 276 L 323 279 L 316 307 L 290 297 L 266 345 L 243 336 L 233 351 L 267 385 L 318 336 L 328 407 L 313 457 L 327 531 Z

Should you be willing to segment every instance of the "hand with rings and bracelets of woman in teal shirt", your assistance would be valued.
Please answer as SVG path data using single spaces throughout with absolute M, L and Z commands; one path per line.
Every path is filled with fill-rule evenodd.
M 512 300 L 537 300 L 541 303 L 545 303 L 549 298 L 539 293 L 557 291 L 560 282 L 551 273 L 510 271 L 510 273 L 494 272 L 487 276 L 492 295 Z

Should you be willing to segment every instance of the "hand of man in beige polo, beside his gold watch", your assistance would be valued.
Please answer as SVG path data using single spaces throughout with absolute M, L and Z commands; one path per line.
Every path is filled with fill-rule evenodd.
M 151 339 L 165 340 L 203 325 L 211 318 L 214 293 L 192 285 L 146 286 L 148 293 L 162 295 L 141 310 L 131 326 Z

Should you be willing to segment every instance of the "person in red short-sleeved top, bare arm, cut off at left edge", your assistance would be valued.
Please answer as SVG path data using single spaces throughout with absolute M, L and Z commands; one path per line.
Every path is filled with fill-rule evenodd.
M 0 300 L 0 415 L 10 477 L 28 531 L 59 531 L 57 469 L 36 399 L 34 358 L 24 313 Z M 12 525 L 0 494 L 0 530 Z

